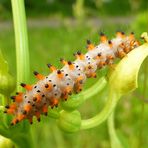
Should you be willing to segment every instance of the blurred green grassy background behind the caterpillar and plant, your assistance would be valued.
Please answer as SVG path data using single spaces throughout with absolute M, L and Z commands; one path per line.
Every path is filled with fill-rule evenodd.
M 148 31 L 147 0 L 25 0 L 31 72 L 48 74 L 47 63 L 61 67 L 59 58 L 74 60 L 77 50 L 86 52 L 86 39 L 99 43 L 98 32 L 109 38 L 116 30 L 140 34 Z M 6 57 L 10 72 L 16 77 L 15 41 L 10 0 L 0 0 L 0 49 Z M 115 124 L 123 145 L 127 148 L 148 147 L 148 82 L 144 62 L 139 74 L 139 88 L 119 102 Z M 98 74 L 100 72 L 98 71 Z M 35 82 L 32 73 L 30 81 Z M 99 79 L 99 77 L 97 78 Z M 87 80 L 85 88 L 95 83 Z M 85 89 L 84 88 L 84 89 Z M 98 113 L 105 103 L 106 90 L 85 102 L 80 108 L 82 118 Z M 66 134 L 58 129 L 56 121 L 42 117 L 41 123 L 31 127 L 36 148 L 109 148 L 107 124 L 94 129 Z

